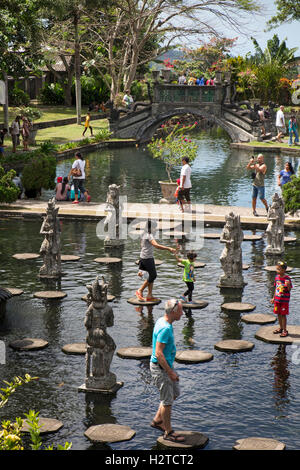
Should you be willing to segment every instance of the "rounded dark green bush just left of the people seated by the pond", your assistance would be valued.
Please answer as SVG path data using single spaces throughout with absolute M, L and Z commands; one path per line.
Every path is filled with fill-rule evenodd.
M 22 171 L 22 184 L 25 196 L 35 198 L 42 189 L 55 188 L 56 159 L 53 156 L 38 155 L 27 163 Z

